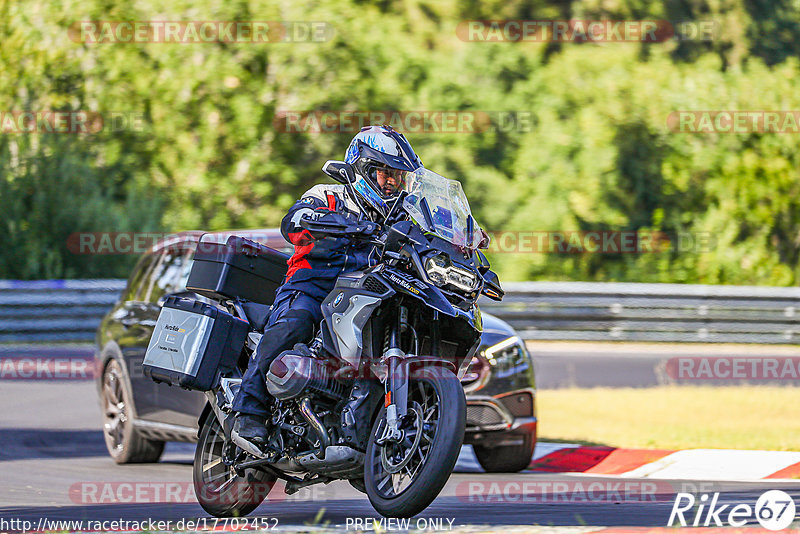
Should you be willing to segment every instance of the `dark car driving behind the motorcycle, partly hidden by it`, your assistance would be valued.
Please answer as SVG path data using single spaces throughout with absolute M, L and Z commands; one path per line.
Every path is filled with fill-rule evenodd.
M 117 463 L 155 462 L 167 441 L 195 441 L 206 403 L 197 391 L 156 384 L 142 360 L 161 305 L 170 295 L 207 299 L 186 290 L 201 233 L 180 234 L 144 254 L 120 300 L 97 330 L 98 394 L 106 446 Z M 224 242 L 230 233 L 206 235 Z M 278 230 L 236 232 L 291 253 Z M 533 362 L 504 321 L 483 314 L 481 347 L 462 385 L 467 394 L 465 443 L 490 472 L 516 472 L 530 463 L 536 443 Z

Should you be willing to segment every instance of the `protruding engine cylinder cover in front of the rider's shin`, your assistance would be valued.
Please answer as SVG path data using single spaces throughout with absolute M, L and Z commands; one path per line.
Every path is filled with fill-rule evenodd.
M 294 399 L 309 392 L 334 400 L 346 394 L 344 384 L 333 378 L 325 362 L 291 350 L 281 353 L 269 366 L 267 390 L 280 400 Z

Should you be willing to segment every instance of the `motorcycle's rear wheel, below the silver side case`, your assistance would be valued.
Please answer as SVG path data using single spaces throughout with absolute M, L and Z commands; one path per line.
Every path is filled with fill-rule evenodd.
M 275 477 L 258 469 L 237 473 L 225 463 L 226 447 L 232 447 L 234 454 L 241 452 L 226 442 L 222 426 L 210 412 L 203 421 L 194 453 L 194 491 L 200 506 L 209 514 L 241 517 L 264 501 L 275 484 Z

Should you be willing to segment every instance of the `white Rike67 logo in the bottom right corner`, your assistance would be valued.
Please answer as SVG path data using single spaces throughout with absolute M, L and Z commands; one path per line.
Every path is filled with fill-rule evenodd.
M 769 530 L 783 530 L 794 521 L 795 505 L 792 497 L 781 490 L 769 490 L 761 494 L 755 507 L 741 502 L 719 502 L 719 492 L 711 498 L 707 493 L 699 499 L 691 493 L 678 493 L 667 526 L 742 527 L 747 523 L 758 523 Z

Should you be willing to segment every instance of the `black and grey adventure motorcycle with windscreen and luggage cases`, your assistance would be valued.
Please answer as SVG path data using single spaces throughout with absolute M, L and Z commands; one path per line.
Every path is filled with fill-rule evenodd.
M 358 198 L 350 165 L 329 161 L 323 171 Z M 264 450 L 232 430 L 231 403 L 286 256 L 240 237 L 198 245 L 187 288 L 212 304 L 168 298 L 144 372 L 206 392 L 193 478 L 210 514 L 250 513 L 277 479 L 289 494 L 344 479 L 380 514 L 409 517 L 447 482 L 464 437 L 459 377 L 480 341 L 476 300 L 500 300 L 503 291 L 478 250 L 488 238 L 461 184 L 422 168 L 406 180 L 381 222 L 334 212 L 301 222 L 316 239 L 360 240 L 378 257 L 341 275 L 316 336 L 272 362 Z

